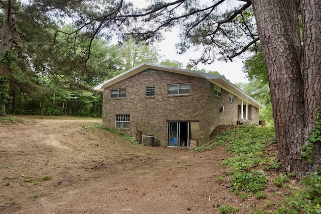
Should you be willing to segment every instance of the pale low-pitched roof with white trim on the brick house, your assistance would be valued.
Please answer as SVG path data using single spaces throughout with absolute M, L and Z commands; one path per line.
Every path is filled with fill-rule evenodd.
M 205 78 L 208 81 L 220 86 L 224 90 L 233 93 L 237 97 L 241 98 L 241 100 L 244 101 L 244 104 L 247 102 L 248 104 L 254 105 L 257 108 L 264 108 L 264 105 L 253 99 L 251 96 L 246 94 L 244 91 L 239 89 L 237 86 L 235 86 L 233 83 L 228 81 L 222 76 L 215 75 L 215 74 L 210 74 L 210 73 L 205 73 L 205 72 L 199 72 L 195 70 L 187 70 L 187 69 L 182 69 L 182 68 L 174 68 L 170 66 L 165 66 L 165 65 L 157 65 L 157 64 L 152 64 L 148 62 L 141 63 L 140 65 L 137 65 L 117 76 L 114 76 L 111 79 L 108 79 L 107 81 L 97 85 L 94 87 L 94 90 L 99 90 L 103 91 L 105 87 L 108 87 L 110 85 L 113 85 L 123 79 L 126 79 L 136 73 L 139 73 L 147 68 L 151 69 L 156 69 L 156 70 L 163 70 L 163 71 L 168 71 L 168 72 L 173 72 L 173 73 L 179 73 L 179 74 L 184 74 L 184 75 L 189 75 L 189 76 L 195 76 L 195 77 L 200 77 L 200 78 Z M 238 99 L 238 104 L 241 104 L 241 100 Z

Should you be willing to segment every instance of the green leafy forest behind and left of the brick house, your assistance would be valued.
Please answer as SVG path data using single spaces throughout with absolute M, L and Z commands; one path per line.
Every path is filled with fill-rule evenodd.
M 62 38 L 62 42 L 67 42 L 66 38 Z M 81 50 L 78 51 L 82 54 Z M 165 59 L 157 48 L 133 39 L 113 45 L 96 39 L 86 68 L 77 64 L 79 62 L 72 54 L 58 56 L 59 52 L 51 53 L 57 53 L 54 57 L 60 58 L 57 62 L 58 72 L 34 68 L 29 72 L 21 72 L 21 76 L 13 76 L 6 105 L 7 114 L 101 117 L 102 92 L 94 91 L 95 85 L 143 62 L 183 66 L 181 62 Z M 13 52 L 8 55 L 12 55 L 12 64 L 19 64 L 22 60 Z

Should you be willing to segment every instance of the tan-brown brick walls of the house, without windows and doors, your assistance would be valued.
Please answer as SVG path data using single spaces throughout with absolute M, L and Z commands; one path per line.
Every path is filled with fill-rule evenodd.
M 168 95 L 169 84 L 183 83 L 190 83 L 189 95 Z M 146 86 L 155 86 L 154 96 L 145 96 Z M 110 98 L 112 89 L 122 88 L 126 88 L 126 97 Z M 104 88 L 102 123 L 115 128 L 115 115 L 130 115 L 130 128 L 125 132 L 133 137 L 136 133 L 155 135 L 159 145 L 167 146 L 169 121 L 199 122 L 202 144 L 217 125 L 235 124 L 238 119 L 237 97 L 232 103 L 228 91 L 222 89 L 222 97 L 217 97 L 213 88 L 205 78 L 142 71 Z

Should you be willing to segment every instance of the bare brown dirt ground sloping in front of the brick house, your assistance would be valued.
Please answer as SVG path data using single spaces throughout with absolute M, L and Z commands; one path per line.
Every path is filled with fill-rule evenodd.
M 0 124 L 0 213 L 249 213 L 265 199 L 230 192 L 222 146 L 212 151 L 134 145 L 92 121 Z M 272 148 L 273 150 L 273 148 Z M 270 151 L 274 152 L 274 151 Z M 267 197 L 279 192 L 268 173 Z M 222 178 L 222 177 L 221 177 Z M 281 192 L 273 196 L 283 196 Z

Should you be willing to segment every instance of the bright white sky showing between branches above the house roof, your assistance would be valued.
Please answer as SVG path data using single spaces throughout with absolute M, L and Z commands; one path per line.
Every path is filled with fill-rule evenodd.
M 137 7 L 144 7 L 146 5 L 145 0 L 132 0 L 132 2 Z M 179 42 L 178 36 L 179 30 L 173 29 L 171 32 L 164 33 L 165 39 L 154 45 L 158 46 L 160 54 L 164 55 L 166 59 L 183 62 L 183 68 L 185 68 L 189 60 L 191 58 L 197 58 L 198 54 L 193 51 L 193 48 L 184 54 L 178 54 L 175 48 L 175 44 Z M 218 71 L 232 83 L 248 82 L 248 79 L 245 77 L 246 74 L 242 71 L 242 60 L 238 58 L 233 59 L 233 62 L 215 61 L 211 65 L 204 65 L 200 63 L 197 65 L 197 67 L 211 71 Z

